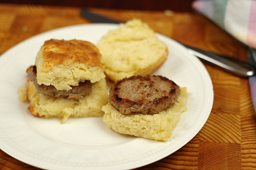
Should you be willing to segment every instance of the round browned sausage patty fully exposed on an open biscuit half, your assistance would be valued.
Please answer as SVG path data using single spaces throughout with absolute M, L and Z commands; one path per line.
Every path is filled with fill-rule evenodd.
M 111 89 L 109 103 L 122 114 L 157 114 L 169 108 L 180 95 L 180 87 L 160 75 L 132 76 Z

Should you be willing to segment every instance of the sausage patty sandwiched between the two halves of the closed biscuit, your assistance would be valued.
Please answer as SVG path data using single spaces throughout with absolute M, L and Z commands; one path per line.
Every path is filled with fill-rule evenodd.
M 92 83 L 90 81 L 84 81 L 80 82 L 79 86 L 71 86 L 72 89 L 66 91 L 66 90 L 57 90 L 54 86 L 46 86 L 44 84 L 37 84 L 37 67 L 31 66 L 27 70 L 28 72 L 28 79 L 30 81 L 34 82 L 34 85 L 38 92 L 41 92 L 45 95 L 51 95 L 53 97 L 59 98 L 59 97 L 68 97 L 68 98 L 82 98 L 89 94 Z

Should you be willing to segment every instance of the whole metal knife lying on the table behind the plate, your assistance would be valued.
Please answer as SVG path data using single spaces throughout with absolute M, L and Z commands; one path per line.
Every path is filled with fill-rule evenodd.
M 81 11 L 82 17 L 90 20 L 91 22 L 100 22 L 100 23 L 115 23 L 119 24 L 121 21 L 113 20 L 111 18 L 96 14 L 91 12 L 86 8 L 82 8 Z M 180 43 L 180 42 L 179 42 Z M 239 77 L 248 78 L 251 75 L 255 75 L 255 69 L 250 64 L 239 61 L 237 59 L 232 59 L 227 56 L 222 56 L 216 53 L 211 53 L 205 50 L 201 50 L 195 47 L 191 47 L 180 43 L 185 46 L 188 50 L 188 53 L 203 59 L 203 61 L 207 61 L 207 63 L 214 65 L 222 70 L 232 73 L 233 75 L 237 75 Z

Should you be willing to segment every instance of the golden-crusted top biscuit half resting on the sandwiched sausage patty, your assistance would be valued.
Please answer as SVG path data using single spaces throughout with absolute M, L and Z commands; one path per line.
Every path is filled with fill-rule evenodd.
M 36 67 L 38 84 L 53 85 L 58 90 L 105 78 L 98 48 L 80 40 L 46 41 L 37 54 Z

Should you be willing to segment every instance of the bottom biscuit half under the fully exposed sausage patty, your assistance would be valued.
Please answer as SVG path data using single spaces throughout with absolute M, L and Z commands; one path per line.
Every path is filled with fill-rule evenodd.
M 103 122 L 114 131 L 136 137 L 166 141 L 180 120 L 180 114 L 186 111 L 188 93 L 186 87 L 180 88 L 177 102 L 159 114 L 124 115 L 108 103 L 102 107 L 105 112 Z

